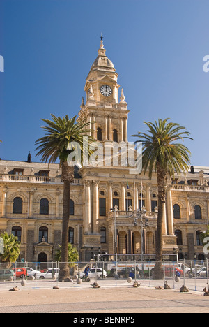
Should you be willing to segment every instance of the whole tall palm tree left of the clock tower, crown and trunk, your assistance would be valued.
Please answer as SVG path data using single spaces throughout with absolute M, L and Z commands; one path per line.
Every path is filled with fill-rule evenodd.
M 54 163 L 57 159 L 60 161 L 63 180 L 63 228 L 62 228 L 62 252 L 60 265 L 61 271 L 59 280 L 65 280 L 70 277 L 68 267 L 68 228 L 69 228 L 69 203 L 70 203 L 70 184 L 74 180 L 74 166 L 68 164 L 68 156 L 72 151 L 89 153 L 88 145 L 86 145 L 84 136 L 88 136 L 90 129 L 86 129 L 91 123 L 83 120 L 76 122 L 76 116 L 69 119 L 65 117 L 56 117 L 52 115 L 52 120 L 42 119 L 46 126 L 42 126 L 45 130 L 45 136 L 36 140 L 38 147 L 37 156 L 42 156 L 42 162 Z M 91 142 L 93 138 L 88 136 Z M 72 150 L 69 149 L 70 143 L 74 143 Z M 79 147 L 79 149 L 78 149 Z

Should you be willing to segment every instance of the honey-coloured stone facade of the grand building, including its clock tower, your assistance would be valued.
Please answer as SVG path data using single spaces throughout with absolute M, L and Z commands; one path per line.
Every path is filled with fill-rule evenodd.
M 127 103 L 123 89 L 118 101 L 118 74 L 106 56 L 101 41 L 98 57 L 86 78 L 84 99 L 78 119 L 93 122 L 91 136 L 111 147 L 127 143 Z M 133 131 L 134 133 L 134 131 Z M 75 170 L 70 193 L 69 242 L 79 250 L 80 260 L 93 254 L 118 254 L 149 259 L 155 254 L 157 223 L 157 180 L 134 175 L 130 167 L 112 166 Z M 191 172 L 169 180 L 163 225 L 164 254 L 178 250 L 180 258 L 203 259 L 199 239 L 209 219 L 209 168 L 192 167 Z M 128 182 L 128 189 L 127 189 Z M 142 183 L 142 187 L 141 187 Z M 146 208 L 148 226 L 135 226 L 132 212 Z M 63 183 L 59 164 L 28 161 L 0 161 L 0 232 L 17 235 L 21 241 L 20 259 L 52 261 L 61 243 Z M 117 238 L 111 208 L 117 205 Z M 141 231 L 144 235 L 141 242 Z M 115 240 L 117 240 L 115 242 Z

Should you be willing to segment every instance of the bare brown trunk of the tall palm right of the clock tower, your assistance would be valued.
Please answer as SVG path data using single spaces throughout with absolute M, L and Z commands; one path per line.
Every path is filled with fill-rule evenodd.
M 157 215 L 157 231 L 156 231 L 156 264 L 153 279 L 162 279 L 162 225 L 164 217 L 164 203 L 166 201 L 167 190 L 167 171 L 157 163 L 157 187 L 158 187 L 158 215 Z

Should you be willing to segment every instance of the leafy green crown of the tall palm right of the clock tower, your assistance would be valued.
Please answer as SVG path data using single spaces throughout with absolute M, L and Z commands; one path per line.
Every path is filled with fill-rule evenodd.
M 190 133 L 185 131 L 185 127 L 168 120 L 169 118 L 158 119 L 158 122 L 155 120 L 155 124 L 145 122 L 148 131 L 133 135 L 143 143 L 142 164 L 144 173 L 148 170 L 150 178 L 153 170 L 157 171 L 157 164 L 160 164 L 171 177 L 175 172 L 180 174 L 189 170 L 191 153 L 185 145 L 175 142 L 183 141 L 185 138 L 192 140 L 188 137 Z

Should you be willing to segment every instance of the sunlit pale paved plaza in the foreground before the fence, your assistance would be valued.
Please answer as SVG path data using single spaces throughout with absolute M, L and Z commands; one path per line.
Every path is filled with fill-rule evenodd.
M 141 281 L 135 289 L 125 280 L 99 281 L 100 289 L 93 289 L 91 283 L 81 286 L 71 283 L 28 282 L 26 286 L 17 283 L 19 291 L 9 291 L 14 283 L 0 283 L 0 313 L 208 313 L 209 298 L 203 297 L 206 280 L 199 282 L 199 290 L 189 289 L 180 293 L 181 282 L 171 285 L 171 290 L 156 290 L 162 281 Z M 189 281 L 188 281 L 189 282 Z M 193 281 L 194 282 L 194 281 Z M 59 289 L 53 289 L 54 285 Z M 189 285 L 187 285 L 188 287 Z

